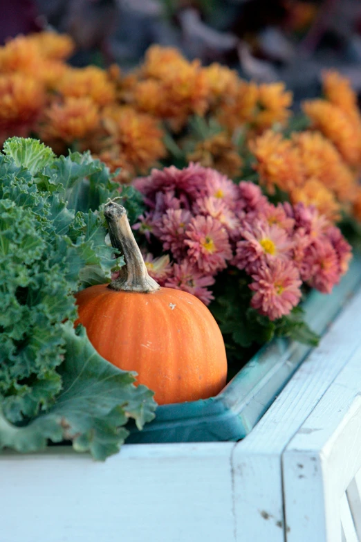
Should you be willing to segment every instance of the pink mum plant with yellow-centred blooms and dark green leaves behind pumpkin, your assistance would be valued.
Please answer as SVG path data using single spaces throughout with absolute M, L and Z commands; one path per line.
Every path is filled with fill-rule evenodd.
M 303 203 L 272 204 L 254 183 L 237 185 L 194 163 L 133 184 L 147 204 L 133 227 L 149 273 L 210 304 L 229 361 L 245 361 L 248 347 L 273 336 L 317 343 L 299 307 L 302 292 L 330 293 L 351 258 L 326 215 Z

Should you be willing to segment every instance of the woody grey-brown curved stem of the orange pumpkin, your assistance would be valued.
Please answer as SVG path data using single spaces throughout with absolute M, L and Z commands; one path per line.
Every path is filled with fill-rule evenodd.
M 120 268 L 120 275 L 109 284 L 112 290 L 151 292 L 160 288 L 159 284 L 148 275 L 139 246 L 134 239 L 128 222 L 127 211 L 123 206 L 109 201 L 104 207 L 109 237 L 114 249 L 124 255 L 125 265 Z

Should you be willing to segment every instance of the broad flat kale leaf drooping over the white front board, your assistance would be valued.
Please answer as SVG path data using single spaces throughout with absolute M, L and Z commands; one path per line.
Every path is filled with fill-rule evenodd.
M 134 386 L 131 373 L 115 368 L 96 352 L 80 326 L 78 334 L 64 324 L 66 356 L 59 371 L 63 389 L 46 413 L 26 426 L 10 424 L 0 413 L 0 449 L 29 452 L 47 440 L 71 440 L 76 451 L 104 460 L 120 449 L 134 419 L 139 429 L 154 418 L 153 392 Z

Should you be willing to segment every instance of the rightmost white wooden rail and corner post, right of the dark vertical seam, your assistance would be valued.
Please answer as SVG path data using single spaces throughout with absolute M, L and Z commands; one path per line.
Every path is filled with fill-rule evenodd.
M 340 542 L 340 502 L 361 468 L 361 347 L 288 444 L 283 467 L 287 542 Z

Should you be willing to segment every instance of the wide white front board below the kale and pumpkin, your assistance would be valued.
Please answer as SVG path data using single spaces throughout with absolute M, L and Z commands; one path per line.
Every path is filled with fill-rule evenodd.
M 0 456 L 1 542 L 234 542 L 234 443 Z

